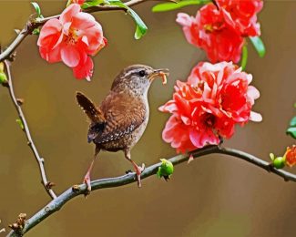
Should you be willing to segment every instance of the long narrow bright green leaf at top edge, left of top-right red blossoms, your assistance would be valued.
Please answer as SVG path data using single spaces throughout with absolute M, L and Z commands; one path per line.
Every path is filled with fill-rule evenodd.
M 183 0 L 178 3 L 163 3 L 154 5 L 152 7 L 152 12 L 159 13 L 159 12 L 167 12 L 179 9 L 181 7 L 187 6 L 187 5 L 205 5 L 208 4 L 209 0 Z

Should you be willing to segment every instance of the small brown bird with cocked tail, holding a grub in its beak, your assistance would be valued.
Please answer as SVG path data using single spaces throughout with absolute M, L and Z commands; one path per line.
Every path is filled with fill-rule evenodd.
M 161 77 L 165 84 L 167 75 L 168 69 L 153 69 L 144 65 L 126 67 L 114 79 L 111 90 L 99 107 L 77 92 L 77 102 L 90 119 L 88 142 L 96 144 L 94 159 L 84 179 L 88 193 L 91 191 L 90 171 L 101 149 L 123 150 L 136 170 L 138 187 L 141 187 L 140 175 L 145 165 L 138 166 L 131 160 L 130 150 L 142 137 L 148 124 L 148 88 L 156 77 Z

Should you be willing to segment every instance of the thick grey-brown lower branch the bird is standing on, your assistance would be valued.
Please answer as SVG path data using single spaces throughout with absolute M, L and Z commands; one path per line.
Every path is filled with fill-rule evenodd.
M 267 170 L 278 176 L 281 176 L 286 181 L 287 180 L 296 181 L 296 175 L 284 170 L 277 170 L 274 167 L 272 167 L 270 163 L 267 161 L 260 160 L 259 158 L 238 149 L 221 148 L 219 146 L 208 146 L 203 149 L 195 150 L 191 152 L 189 155 L 179 155 L 179 156 L 173 157 L 169 159 L 169 161 L 171 161 L 174 165 L 178 165 L 182 162 L 188 161 L 191 155 L 193 158 L 199 158 L 199 157 L 209 155 L 209 154 L 214 154 L 214 153 L 230 155 L 232 157 L 236 157 L 241 160 L 246 160 L 262 168 L 263 170 Z M 149 166 L 141 174 L 141 179 L 143 180 L 148 178 L 149 176 L 156 174 L 158 171 L 158 167 L 160 165 L 161 163 L 157 163 Z M 115 188 L 118 186 L 127 185 L 128 183 L 132 183 L 135 181 L 137 181 L 136 174 L 133 172 L 133 173 L 128 173 L 124 176 L 120 176 L 116 178 L 94 180 L 91 182 L 91 188 L 92 188 L 92 191 L 99 190 L 99 189 Z M 7 236 L 21 236 L 25 234 L 34 226 L 36 226 L 38 223 L 45 220 L 48 216 L 60 210 L 66 204 L 67 201 L 70 201 L 71 199 L 77 197 L 78 195 L 84 194 L 86 191 L 87 191 L 86 184 L 75 185 L 72 188 L 69 188 L 68 190 L 64 191 L 61 195 L 59 195 L 55 200 L 50 201 L 40 211 L 36 212 L 36 214 L 32 216 L 29 220 L 27 220 L 23 230 L 19 232 L 17 231 L 9 232 Z

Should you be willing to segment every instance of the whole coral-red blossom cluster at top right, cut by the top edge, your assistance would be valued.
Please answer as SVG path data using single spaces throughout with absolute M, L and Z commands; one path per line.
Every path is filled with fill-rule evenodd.
M 179 13 L 177 22 L 190 44 L 205 50 L 212 63 L 240 61 L 244 37 L 260 36 L 257 14 L 261 0 L 216 0 L 201 7 L 195 17 Z

